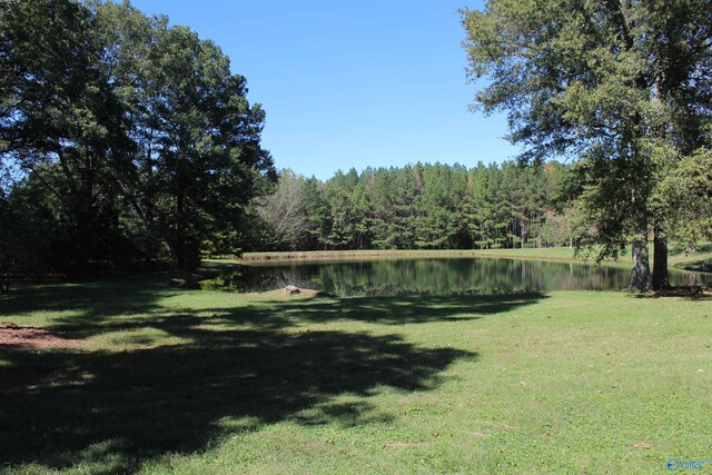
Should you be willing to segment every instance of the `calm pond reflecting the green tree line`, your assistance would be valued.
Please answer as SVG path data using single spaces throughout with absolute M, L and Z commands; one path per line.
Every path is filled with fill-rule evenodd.
M 619 290 L 624 267 L 491 258 L 269 260 L 204 281 L 204 288 L 266 291 L 294 284 L 337 296 L 506 294 L 548 290 Z M 712 285 L 712 275 L 671 270 L 672 285 Z

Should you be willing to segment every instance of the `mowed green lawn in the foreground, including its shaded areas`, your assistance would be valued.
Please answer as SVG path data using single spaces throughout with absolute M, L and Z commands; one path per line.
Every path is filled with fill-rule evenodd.
M 0 472 L 661 473 L 712 459 L 712 300 L 14 290 Z M 706 469 L 712 469 L 708 466 Z

